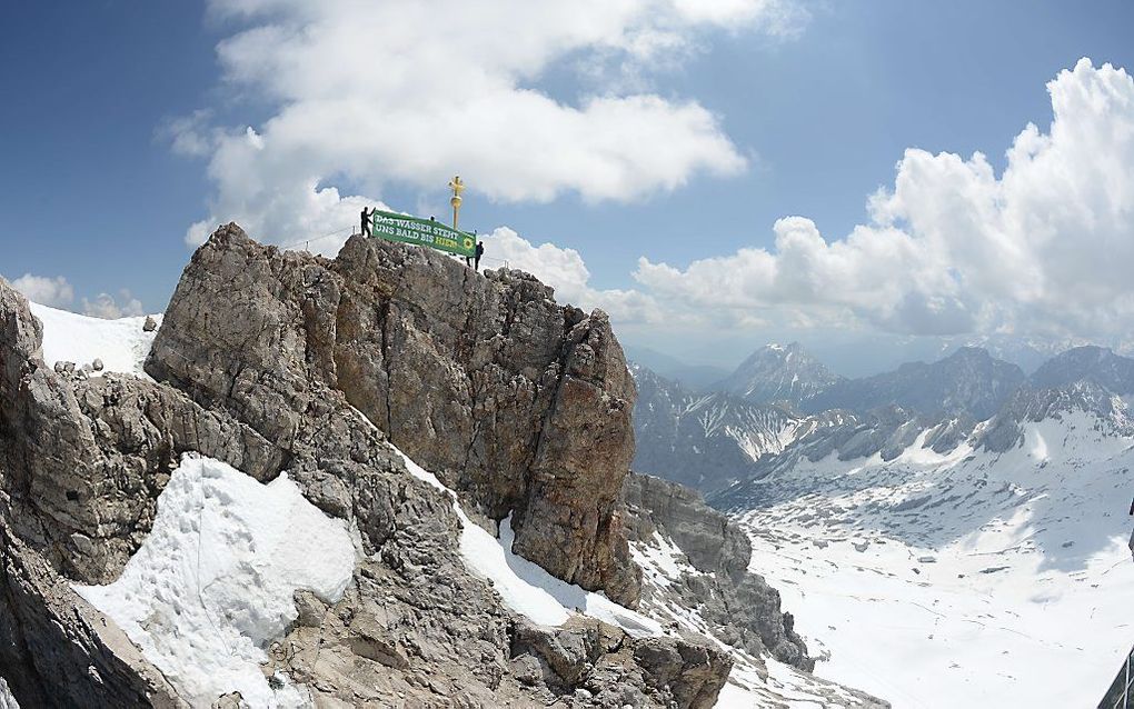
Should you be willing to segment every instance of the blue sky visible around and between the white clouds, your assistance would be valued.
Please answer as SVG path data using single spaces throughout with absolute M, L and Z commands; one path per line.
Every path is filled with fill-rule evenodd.
M 9 279 L 25 273 L 62 277 L 73 286 L 69 306 L 76 310 L 83 309 L 83 298 L 94 301 L 100 293 L 124 301 L 121 289 L 141 299 L 146 311 L 164 306 L 192 253 L 186 244 L 191 225 L 227 218 L 214 211 L 245 204 L 231 201 L 226 192 L 230 187 L 208 172 L 210 160 L 223 149 L 208 144 L 175 150 L 171 136 L 205 136 L 209 143 L 211 130 L 238 134 L 251 126 L 264 133 L 264 123 L 280 113 L 281 103 L 310 99 L 291 93 L 282 82 L 264 88 L 271 79 L 240 74 L 255 66 L 254 47 L 242 49 L 228 64 L 218 60 L 219 43 L 280 23 L 279 17 L 218 7 L 225 5 L 209 10 L 197 3 L 48 1 L 5 9 L 0 273 Z M 716 116 L 717 135 L 746 162 L 742 169 L 674 168 L 682 186 L 636 185 L 629 196 L 595 199 L 568 183 L 557 186 L 550 201 L 517 193 L 510 185 L 479 192 L 479 185 L 498 176 L 473 174 L 466 177 L 471 189 L 463 225 L 482 231 L 507 226 L 526 243 L 550 242 L 577 251 L 590 275 L 581 298 L 593 296 L 595 304 L 616 314 L 617 305 L 608 306 L 602 294 L 641 292 L 662 316 L 627 313 L 624 339 L 689 360 L 735 362 L 753 346 L 782 337 L 797 337 L 837 357 L 848 341 L 845 332 L 839 335 L 844 330 L 869 340 L 880 335 L 887 341 L 908 343 L 925 335 L 920 324 L 896 324 L 889 311 L 865 313 L 853 303 L 806 310 L 798 298 L 785 296 L 782 302 L 799 311 L 787 320 L 779 319 L 780 301 L 768 295 L 754 301 L 758 310 L 767 310 L 754 319 L 738 315 L 722 322 L 717 313 L 701 312 L 712 310 L 703 298 L 686 312 L 697 297 L 689 290 L 692 272 L 686 269 L 694 261 L 727 258 L 745 247 L 775 251 L 773 223 L 789 216 L 812 220 L 828 243 L 845 238 L 855 225 L 868 222 L 868 196 L 879 187 L 894 189 L 895 166 L 909 147 L 965 159 L 981 151 L 999 175 L 1006 167 L 1005 151 L 1024 126 L 1033 121 L 1042 132 L 1050 124 L 1046 84 L 1060 70 L 1070 69 L 1081 57 L 1090 57 L 1095 67 L 1134 67 L 1134 6 L 1128 2 L 1095 2 L 1086 9 L 1066 2 L 886 0 L 792 3 L 790 10 L 794 19 L 787 32 L 769 29 L 761 19 L 751 26 L 731 20 L 691 25 L 682 32 L 685 43 L 675 52 L 679 58 L 663 51 L 629 68 L 633 61 L 625 48 L 581 42 L 570 52 L 541 57 L 543 69 L 517 79 L 521 88 L 568 105 L 611 94 L 657 95 L 674 104 L 695 101 Z M 315 22 L 290 7 L 278 14 L 291 23 Z M 428 36 L 432 20 L 421 22 Z M 468 53 L 451 62 L 454 81 L 460 79 L 466 57 L 493 51 L 473 23 L 467 24 L 467 36 L 458 39 L 467 40 Z M 600 71 L 590 70 L 595 54 L 602 59 Z M 369 60 L 357 57 L 361 64 Z M 344 85 L 349 91 L 350 84 Z M 170 128 L 198 110 L 208 113 L 189 128 Z M 476 138 L 475 130 L 467 136 L 469 142 Z M 467 171 L 459 147 L 441 141 L 438 150 L 452 153 L 449 171 Z M 667 150 L 665 141 L 658 141 L 658 150 Z M 438 161 L 445 163 L 446 158 Z M 541 159 L 539 153 L 528 158 Z M 635 159 L 627 158 L 633 168 L 649 169 Z M 392 160 L 405 162 L 400 157 Z M 273 169 L 289 164 L 280 159 Z M 364 168 L 344 166 L 341 172 L 335 166 L 320 169 L 327 172 L 320 184 L 336 186 L 344 195 L 364 195 L 405 211 L 441 211 L 439 205 L 446 203 L 443 179 L 430 182 L 428 172 L 390 177 L 390 166 L 378 158 Z M 548 166 L 552 175 L 556 169 Z M 561 169 L 569 172 L 574 166 Z M 555 177 L 547 179 L 555 183 Z M 357 211 L 344 206 L 336 214 L 350 210 Z M 341 216 L 328 217 L 324 231 L 344 226 L 340 221 Z M 268 218 L 261 222 L 265 230 L 274 225 L 278 234 L 253 236 L 285 240 L 284 226 Z M 316 219 L 291 228 L 311 233 L 319 223 Z M 288 236 L 295 233 L 302 231 Z M 680 275 L 670 279 L 668 295 L 657 279 L 644 284 L 634 278 L 640 256 Z M 962 265 L 956 269 L 965 276 Z M 978 280 L 972 276 L 965 282 Z M 731 302 L 734 310 L 744 310 L 743 298 Z M 980 324 L 970 324 L 976 322 L 973 306 L 963 305 L 965 324 L 945 334 L 1002 332 L 1005 322 L 1019 336 L 1034 330 L 1101 338 L 1119 329 L 1099 326 L 1102 315 L 1072 327 L 1015 311 L 1007 320 L 1001 313 L 988 324 L 990 316 L 981 315 Z M 677 309 L 682 316 L 670 318 Z M 1114 320 L 1125 311 L 1106 315 Z M 933 328 L 933 334 L 943 332 Z M 848 363 L 845 369 L 855 366 Z

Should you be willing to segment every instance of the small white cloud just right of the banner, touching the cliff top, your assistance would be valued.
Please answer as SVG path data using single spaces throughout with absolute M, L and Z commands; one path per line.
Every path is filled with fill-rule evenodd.
M 535 246 L 506 227 L 482 238 L 486 254 L 482 265 L 507 265 L 527 271 L 555 288 L 556 299 L 560 303 L 572 303 L 584 310 L 601 307 L 612 320 L 623 323 L 661 321 L 658 303 L 649 295 L 637 290 L 592 287 L 591 272 L 574 248 L 560 248 L 553 244 Z

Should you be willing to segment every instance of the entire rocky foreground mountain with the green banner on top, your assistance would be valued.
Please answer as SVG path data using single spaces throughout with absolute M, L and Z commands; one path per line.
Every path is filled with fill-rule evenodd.
M 531 276 L 361 237 L 328 260 L 228 225 L 185 269 L 150 378 L 48 366 L 43 337 L 0 281 L 0 676 L 25 707 L 202 706 L 170 634 L 183 608 L 124 626 L 79 591 L 136 568 L 163 515 L 198 540 L 206 508 L 223 521 L 226 465 L 295 486 L 354 540 L 340 590 L 297 586 L 278 619 L 221 610 L 239 599 L 203 586 L 184 601 L 213 630 L 259 633 L 248 658 L 278 706 L 702 708 L 738 691 L 742 665 L 769 702 L 787 673 L 882 706 L 801 672 L 806 648 L 742 534 L 628 475 L 635 390 L 609 321 Z M 197 459 L 221 472 L 171 509 Z M 181 571 L 200 574 L 201 552 Z M 675 581 L 676 558 L 693 572 Z M 562 619 L 533 619 L 523 593 Z

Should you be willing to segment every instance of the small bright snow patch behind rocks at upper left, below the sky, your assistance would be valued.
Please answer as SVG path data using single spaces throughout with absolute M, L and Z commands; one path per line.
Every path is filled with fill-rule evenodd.
M 145 332 L 145 316 L 103 320 L 29 303 L 43 323 L 43 361 L 78 366 L 102 360 L 103 371 L 144 377 L 143 365 L 158 331 Z M 151 315 L 159 324 L 161 315 Z

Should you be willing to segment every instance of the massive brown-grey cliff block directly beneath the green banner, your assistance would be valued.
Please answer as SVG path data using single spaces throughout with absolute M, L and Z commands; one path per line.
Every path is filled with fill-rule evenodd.
M 277 441 L 341 391 L 489 517 L 511 514 L 517 552 L 634 605 L 633 381 L 607 316 L 551 295 L 430 250 L 358 237 L 328 261 L 229 225 L 186 268 L 146 371 Z

